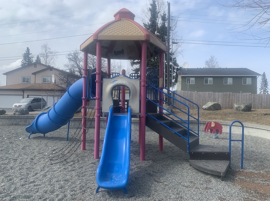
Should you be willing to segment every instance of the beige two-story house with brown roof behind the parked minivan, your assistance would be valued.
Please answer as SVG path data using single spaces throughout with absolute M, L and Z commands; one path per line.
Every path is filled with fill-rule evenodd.
M 0 86 L 0 108 L 11 108 L 27 97 L 43 97 L 47 105 L 52 106 L 68 86 L 80 79 L 80 76 L 36 62 L 3 75 L 7 76 L 7 82 L 6 86 Z

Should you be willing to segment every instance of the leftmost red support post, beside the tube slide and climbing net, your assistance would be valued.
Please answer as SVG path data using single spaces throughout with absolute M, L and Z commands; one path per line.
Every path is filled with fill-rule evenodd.
M 87 60 L 88 60 L 88 51 L 83 52 L 83 76 L 88 76 L 88 68 L 87 68 Z M 83 116 L 86 116 L 87 110 L 86 110 L 86 105 L 87 105 L 87 94 L 86 94 L 86 77 L 83 77 Z M 86 127 L 86 118 L 83 117 L 82 120 L 82 127 Z M 85 142 L 86 142 L 86 130 L 82 128 L 82 148 L 81 150 L 85 150 Z

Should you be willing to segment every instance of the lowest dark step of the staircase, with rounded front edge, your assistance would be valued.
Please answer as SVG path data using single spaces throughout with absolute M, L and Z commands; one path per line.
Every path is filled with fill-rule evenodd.
M 189 164 L 203 172 L 224 177 L 230 161 L 227 160 L 189 160 Z M 223 178 L 222 178 L 223 179 Z

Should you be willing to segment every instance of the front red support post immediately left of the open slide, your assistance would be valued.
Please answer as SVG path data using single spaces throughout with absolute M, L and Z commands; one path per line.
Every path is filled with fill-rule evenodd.
M 94 159 L 99 159 L 100 110 L 101 110 L 101 41 L 97 41 L 96 114 Z

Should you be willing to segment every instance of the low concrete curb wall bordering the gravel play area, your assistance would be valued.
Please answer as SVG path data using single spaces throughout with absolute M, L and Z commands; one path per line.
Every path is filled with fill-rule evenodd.
M 0 115 L 0 125 L 31 125 L 34 119 L 36 118 L 35 115 Z M 93 118 L 95 119 L 95 118 Z M 81 117 L 73 117 L 70 120 L 70 128 L 78 128 L 79 125 L 81 125 Z M 93 128 L 95 127 L 94 121 L 91 123 L 89 119 L 87 128 Z M 199 133 L 204 132 L 204 126 L 206 123 L 211 120 L 200 120 L 199 121 Z M 216 121 L 220 123 L 223 127 L 223 132 L 229 132 L 229 127 L 232 122 L 229 121 Z M 244 134 L 245 135 L 252 135 L 257 137 L 262 137 L 266 139 L 270 139 L 270 126 L 267 125 L 258 125 L 258 124 L 249 124 L 249 123 L 243 123 L 244 125 Z M 100 118 L 100 127 L 105 128 L 106 127 L 106 118 L 101 117 Z M 1 126 L 0 126 L 1 128 Z M 68 128 L 68 125 L 64 125 L 63 128 Z M 139 128 L 139 119 L 133 118 L 132 119 L 132 130 L 138 130 Z M 190 129 L 195 130 L 197 132 L 197 121 L 196 120 L 190 120 Z M 148 127 L 146 127 L 146 130 L 151 130 Z M 242 126 L 239 123 L 234 123 L 232 125 L 232 133 L 235 134 L 242 134 Z

